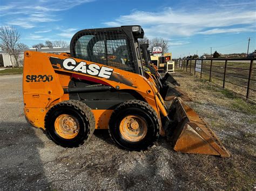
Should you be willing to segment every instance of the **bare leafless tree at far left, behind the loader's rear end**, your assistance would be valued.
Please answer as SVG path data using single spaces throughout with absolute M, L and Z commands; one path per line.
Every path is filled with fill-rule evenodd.
M 10 55 L 10 58 L 14 57 L 15 63 L 11 59 L 12 66 L 14 67 L 18 66 L 18 43 L 20 38 L 21 34 L 14 27 L 0 27 L 0 47 Z

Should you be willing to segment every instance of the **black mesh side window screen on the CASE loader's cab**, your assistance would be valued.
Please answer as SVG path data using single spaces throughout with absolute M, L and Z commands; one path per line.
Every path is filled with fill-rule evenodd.
M 82 32 L 73 46 L 76 58 L 136 73 L 131 44 L 122 32 Z

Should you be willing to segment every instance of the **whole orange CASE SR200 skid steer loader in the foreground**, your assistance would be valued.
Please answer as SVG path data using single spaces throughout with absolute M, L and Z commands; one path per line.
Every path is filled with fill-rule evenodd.
M 174 150 L 229 157 L 203 119 L 175 98 L 167 109 L 153 79 L 146 79 L 138 38 L 142 27 L 77 32 L 70 54 L 24 52 L 24 112 L 56 144 L 76 147 L 95 129 L 109 129 L 113 142 L 145 150 L 159 135 Z

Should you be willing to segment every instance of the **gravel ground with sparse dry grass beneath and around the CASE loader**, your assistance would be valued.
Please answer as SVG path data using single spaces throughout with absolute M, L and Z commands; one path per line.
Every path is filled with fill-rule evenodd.
M 124 151 L 105 130 L 95 131 L 78 148 L 57 146 L 25 121 L 22 75 L 0 76 L 0 190 L 253 189 L 255 115 L 215 100 L 219 93 L 201 92 L 198 84 L 204 83 L 193 76 L 174 76 L 193 98 L 188 104 L 210 124 L 231 158 L 174 152 L 165 138 L 144 152 Z

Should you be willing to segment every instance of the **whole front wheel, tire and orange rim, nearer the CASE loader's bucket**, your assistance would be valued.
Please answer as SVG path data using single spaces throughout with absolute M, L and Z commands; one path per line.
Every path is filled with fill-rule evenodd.
M 156 111 L 140 100 L 120 104 L 112 113 L 109 133 L 114 143 L 132 151 L 146 150 L 159 137 Z

